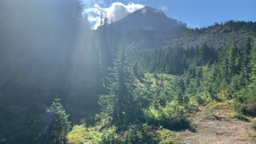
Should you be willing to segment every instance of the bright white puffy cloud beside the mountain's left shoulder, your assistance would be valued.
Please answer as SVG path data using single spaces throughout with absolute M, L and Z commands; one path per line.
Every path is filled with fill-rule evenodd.
M 93 29 L 95 30 L 100 26 L 100 16 L 102 12 L 106 12 L 109 22 L 116 22 L 126 15 L 133 13 L 135 10 L 142 9 L 142 7 L 144 6 L 133 2 L 130 2 L 127 5 L 124 5 L 122 2 L 114 2 L 110 7 L 103 8 L 96 3 L 91 8 L 84 10 L 84 13 L 87 14 L 89 22 L 94 23 Z

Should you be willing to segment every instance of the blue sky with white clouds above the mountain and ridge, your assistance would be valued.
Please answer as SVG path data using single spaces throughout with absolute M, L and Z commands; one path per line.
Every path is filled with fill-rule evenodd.
M 116 22 L 126 15 L 150 6 L 161 9 L 167 17 L 186 22 L 192 28 L 229 20 L 256 22 L 256 0 L 82 0 L 84 14 L 93 29 L 100 23 L 101 11 L 109 21 Z

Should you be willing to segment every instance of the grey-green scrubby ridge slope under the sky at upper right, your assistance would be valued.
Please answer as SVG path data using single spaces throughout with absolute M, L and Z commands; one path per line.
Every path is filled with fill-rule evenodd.
M 197 47 L 207 43 L 208 46 L 221 48 L 235 42 L 240 46 L 246 38 L 255 37 L 256 23 L 227 21 L 213 26 L 195 28 L 179 38 L 170 40 L 170 46 Z

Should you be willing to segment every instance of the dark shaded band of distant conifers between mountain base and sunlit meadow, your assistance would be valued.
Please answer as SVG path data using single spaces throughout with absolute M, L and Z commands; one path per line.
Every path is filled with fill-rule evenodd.
M 182 46 L 130 52 L 130 59 L 145 73 L 181 75 L 186 70 L 194 76 L 195 68 L 218 61 L 218 52 L 213 46 Z

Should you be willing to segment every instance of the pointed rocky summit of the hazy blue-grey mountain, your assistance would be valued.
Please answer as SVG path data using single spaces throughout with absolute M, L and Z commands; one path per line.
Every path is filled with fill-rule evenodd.
M 134 30 L 172 30 L 186 24 L 178 20 L 166 17 L 162 10 L 145 6 L 140 10 L 134 11 L 122 18 L 118 22 L 111 24 L 117 32 L 134 31 Z

